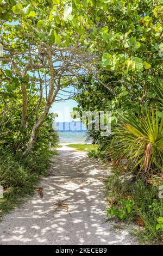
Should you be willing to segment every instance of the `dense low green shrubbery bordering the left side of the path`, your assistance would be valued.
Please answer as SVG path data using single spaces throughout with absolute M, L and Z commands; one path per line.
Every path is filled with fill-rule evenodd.
M 53 153 L 52 150 L 44 149 L 23 159 L 20 154 L 1 151 L 0 185 L 4 187 L 4 197 L 0 199 L 0 217 L 34 193 L 40 175 L 47 174 Z

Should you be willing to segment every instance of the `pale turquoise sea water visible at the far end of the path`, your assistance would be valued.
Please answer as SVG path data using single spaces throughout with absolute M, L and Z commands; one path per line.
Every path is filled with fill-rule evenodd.
M 58 131 L 60 144 L 89 144 L 85 131 Z

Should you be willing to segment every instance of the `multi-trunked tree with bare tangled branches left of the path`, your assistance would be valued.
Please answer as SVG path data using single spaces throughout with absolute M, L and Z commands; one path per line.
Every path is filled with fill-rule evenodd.
M 9 4 L 9 7 L 11 5 Z M 84 48 L 77 42 L 73 46 L 64 44 L 64 38 L 61 39 L 56 34 L 54 25 L 50 22 L 52 19 L 49 17 L 49 23 L 39 20 L 40 15 L 47 18 L 47 11 L 49 15 L 51 14 L 51 4 L 47 6 L 45 1 L 44 5 L 36 2 L 26 5 L 25 2 L 17 2 L 13 5 L 12 16 L 15 15 L 15 22 L 3 23 L 1 28 L 1 44 L 3 45 L 1 90 L 4 93 L 10 91 L 22 95 L 21 122 L 17 134 L 14 135 L 14 138 L 17 137 L 14 147 L 20 149 L 21 139 L 25 136 L 28 143 L 27 141 L 25 143 L 24 156 L 32 150 L 41 125 L 56 100 L 59 90 L 70 84 L 75 86 L 77 78 L 80 79 L 87 74 L 87 70 L 93 69 L 92 56 L 85 53 Z M 33 29 L 30 27 L 32 23 Z M 35 97 L 36 103 L 32 112 L 29 113 L 32 93 L 35 93 L 37 97 Z M 4 97 L 2 99 L 4 100 Z M 4 123 L 6 122 L 6 107 L 7 104 L 4 102 L 2 117 Z M 29 131 L 28 116 L 31 113 L 35 120 L 33 126 L 30 127 L 30 136 L 26 136 Z

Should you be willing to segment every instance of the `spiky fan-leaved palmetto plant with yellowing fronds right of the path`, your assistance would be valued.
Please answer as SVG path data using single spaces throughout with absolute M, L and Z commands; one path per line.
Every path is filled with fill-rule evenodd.
M 163 114 L 152 108 L 141 115 L 120 117 L 114 137 L 106 151 L 116 165 L 122 160 L 132 162 L 134 169 L 163 172 Z

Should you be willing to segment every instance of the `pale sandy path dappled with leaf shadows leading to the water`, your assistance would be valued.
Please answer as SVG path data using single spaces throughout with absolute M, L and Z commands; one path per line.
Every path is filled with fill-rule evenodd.
M 43 198 L 36 193 L 0 223 L 1 245 L 132 245 L 133 237 L 106 223 L 101 164 L 68 147 L 54 156 L 50 176 L 43 178 Z M 65 200 L 66 209 L 57 208 Z

